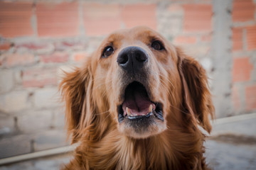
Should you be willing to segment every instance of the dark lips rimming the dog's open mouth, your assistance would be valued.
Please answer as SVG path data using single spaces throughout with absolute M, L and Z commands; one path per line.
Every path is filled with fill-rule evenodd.
M 134 81 L 132 82 L 129 82 L 129 84 L 132 84 Z M 139 81 L 137 81 L 139 82 Z M 139 82 L 140 84 L 142 84 L 141 82 Z M 117 114 L 118 114 L 118 121 L 119 123 L 122 123 L 122 121 L 124 119 L 129 119 L 129 120 L 142 120 L 142 119 L 146 119 L 146 118 L 149 118 L 149 117 L 152 117 L 154 116 L 154 118 L 157 118 L 158 120 L 161 120 L 161 121 L 164 121 L 164 117 L 163 117 L 163 105 L 159 102 L 154 102 L 154 101 L 151 101 L 151 92 L 148 90 L 147 86 L 145 86 L 144 84 L 142 84 L 144 86 L 144 88 L 146 89 L 146 93 L 148 94 L 149 96 L 149 99 L 152 103 L 154 103 L 154 105 L 156 106 L 156 109 L 146 115 L 137 115 L 137 116 L 124 116 L 124 111 L 122 109 L 122 105 L 124 103 L 124 93 L 125 93 L 125 90 L 127 89 L 127 86 L 129 86 L 129 84 L 127 84 L 124 89 L 122 91 L 123 94 L 122 94 L 122 104 L 120 104 L 119 106 L 117 106 Z

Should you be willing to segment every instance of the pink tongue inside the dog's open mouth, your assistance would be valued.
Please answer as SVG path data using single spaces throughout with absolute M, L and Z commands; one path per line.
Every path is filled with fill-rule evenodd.
M 149 101 L 149 98 L 142 91 L 129 91 L 125 96 L 125 101 L 122 105 L 124 115 L 127 115 L 126 108 L 128 107 L 132 115 L 146 115 L 149 113 L 149 106 L 156 108 L 154 103 Z

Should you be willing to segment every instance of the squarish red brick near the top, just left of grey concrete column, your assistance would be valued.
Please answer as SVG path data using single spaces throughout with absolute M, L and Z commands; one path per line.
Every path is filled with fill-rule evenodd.
M 210 32 L 212 30 L 212 6 L 209 4 L 186 4 L 184 8 L 183 30 L 185 32 Z

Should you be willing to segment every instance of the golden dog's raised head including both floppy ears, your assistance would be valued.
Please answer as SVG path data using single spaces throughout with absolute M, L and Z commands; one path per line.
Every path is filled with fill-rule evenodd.
M 185 125 L 187 115 L 210 132 L 204 69 L 149 28 L 112 33 L 60 86 L 74 140 L 92 124 L 99 134 L 111 124 L 129 137 L 150 137 Z

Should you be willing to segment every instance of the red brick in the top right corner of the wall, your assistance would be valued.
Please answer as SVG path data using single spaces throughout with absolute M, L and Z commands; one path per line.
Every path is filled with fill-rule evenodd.
M 233 1 L 233 21 L 253 21 L 255 19 L 255 6 L 252 0 Z

